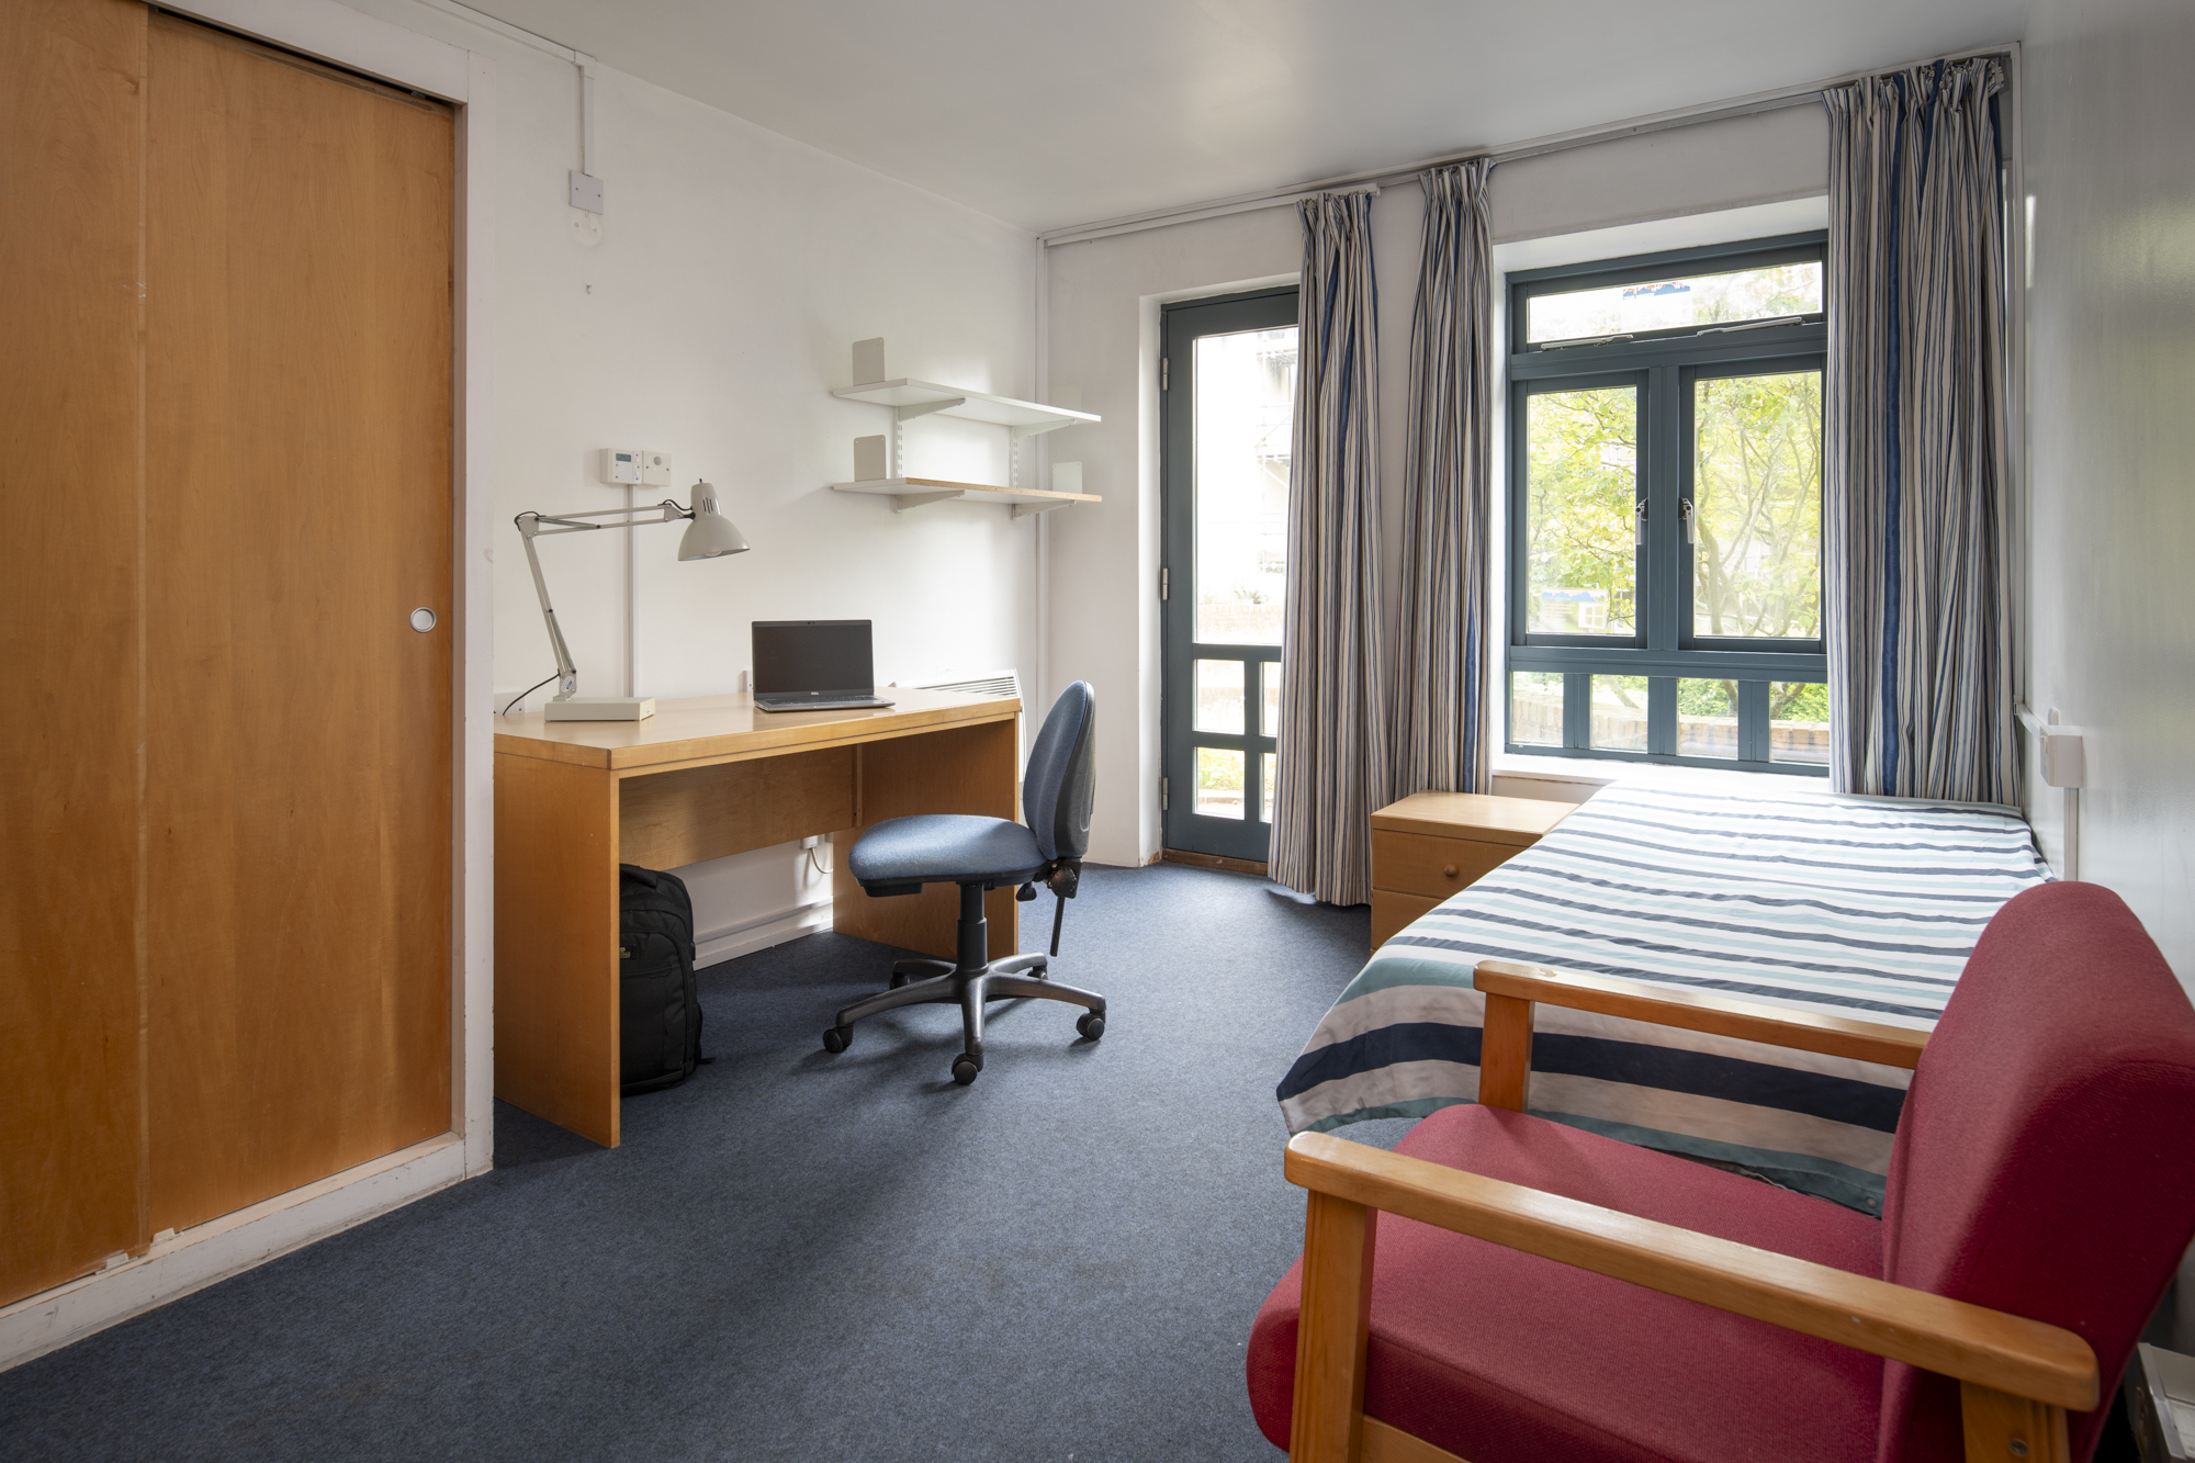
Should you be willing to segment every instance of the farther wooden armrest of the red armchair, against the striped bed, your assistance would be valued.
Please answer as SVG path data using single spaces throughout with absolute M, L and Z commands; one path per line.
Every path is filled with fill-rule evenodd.
M 1910 1030 L 1905 1026 L 1855 1021 L 1853 1017 L 1815 1010 L 1787 1010 L 1763 1002 L 1732 999 L 1712 991 L 1670 991 L 1668 986 L 1651 986 L 1644 980 L 1550 971 L 1543 964 L 1519 964 L 1515 960 L 1479 960 L 1473 984 L 1486 995 L 1543 1002 L 1572 1010 L 1596 1010 L 1633 1021 L 1653 1021 L 1655 1026 L 1703 1030 L 1716 1037 L 1743 1037 L 1800 1052 L 1822 1052 L 1824 1057 L 1857 1057 L 1859 1061 L 1879 1061 L 1886 1068 L 1914 1068 L 1921 1061 L 1921 1048 L 1927 1046 L 1925 1030 Z

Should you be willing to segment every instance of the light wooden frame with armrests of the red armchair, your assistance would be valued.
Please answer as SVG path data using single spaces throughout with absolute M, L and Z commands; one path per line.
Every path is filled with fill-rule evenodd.
M 1473 984 L 1486 995 L 1479 1103 L 1515 1112 L 1526 1109 L 1530 1092 L 1532 1008 L 1541 1002 L 1894 1068 L 1912 1068 L 1927 1041 L 1927 1032 L 1903 1026 L 1510 960 L 1482 960 Z M 1381 1210 L 1956 1377 L 1969 1463 L 2068 1463 L 2065 1412 L 2085 1412 L 2098 1401 L 2087 1342 L 2022 1316 L 1332 1133 L 1297 1133 L 1288 1142 L 1286 1175 L 1310 1191 L 1293 1463 L 1464 1463 L 1363 1412 Z

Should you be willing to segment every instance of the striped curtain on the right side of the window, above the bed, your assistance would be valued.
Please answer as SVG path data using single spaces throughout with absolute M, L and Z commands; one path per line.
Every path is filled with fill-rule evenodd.
M 2013 802 L 1997 62 L 1824 92 L 1837 791 Z

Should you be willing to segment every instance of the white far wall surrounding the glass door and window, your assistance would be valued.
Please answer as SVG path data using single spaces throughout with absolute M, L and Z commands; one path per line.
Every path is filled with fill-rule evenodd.
M 1820 108 L 1802 105 L 1497 167 L 1493 235 L 1574 235 L 1813 198 L 1826 187 L 1826 121 Z M 1400 584 L 1409 314 L 1422 209 L 1411 182 L 1389 187 L 1372 206 L 1389 624 Z M 1047 250 L 1051 389 L 1058 400 L 1073 391 L 1087 411 L 1104 415 L 1100 426 L 1058 433 L 1051 455 L 1082 459 L 1084 483 L 1106 501 L 1051 514 L 1049 683 L 1040 694 L 1080 677 L 1102 696 L 1091 857 L 1104 863 L 1141 863 L 1159 852 L 1159 305 L 1293 281 L 1302 248 L 1295 209 L 1286 206 Z

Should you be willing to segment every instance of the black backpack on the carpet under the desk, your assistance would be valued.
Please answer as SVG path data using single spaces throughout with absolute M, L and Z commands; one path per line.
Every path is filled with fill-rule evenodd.
M 617 865 L 619 1092 L 676 1087 L 700 1054 L 694 901 L 676 874 Z

